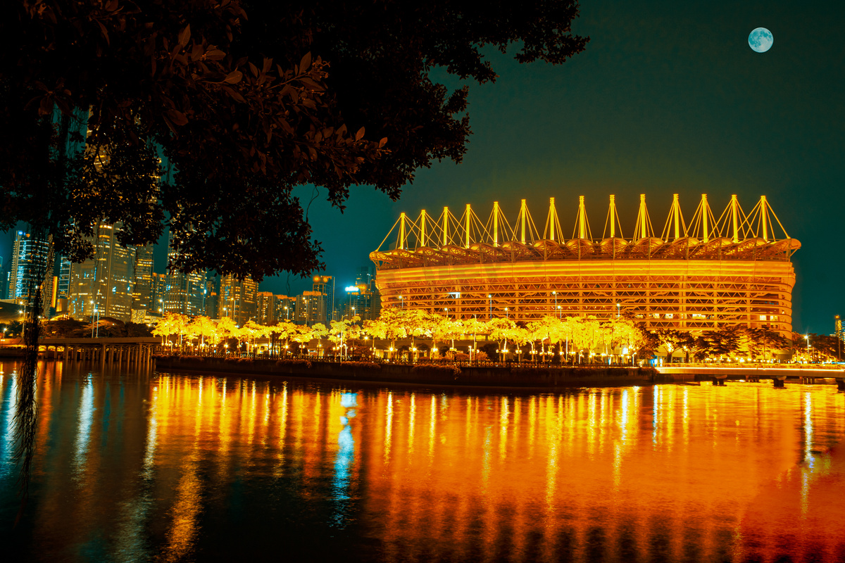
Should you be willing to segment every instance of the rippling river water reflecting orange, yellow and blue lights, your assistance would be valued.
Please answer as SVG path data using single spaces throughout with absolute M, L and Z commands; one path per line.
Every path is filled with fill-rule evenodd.
M 48 363 L 13 528 L 14 370 L 11 560 L 845 560 L 835 386 L 508 392 Z

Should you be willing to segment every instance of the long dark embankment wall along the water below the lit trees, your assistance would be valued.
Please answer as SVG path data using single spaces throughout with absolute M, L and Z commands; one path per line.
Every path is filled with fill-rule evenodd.
M 312 377 L 357 382 L 423 383 L 479 387 L 616 387 L 674 381 L 651 367 L 375 364 L 361 361 L 260 360 L 155 356 L 159 371 L 214 371 Z

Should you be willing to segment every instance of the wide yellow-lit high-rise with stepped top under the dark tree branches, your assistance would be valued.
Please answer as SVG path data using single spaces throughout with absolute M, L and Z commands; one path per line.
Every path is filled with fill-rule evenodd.
M 132 320 L 135 279 L 134 249 L 117 241 L 121 226 L 100 223 L 94 236 L 94 257 L 70 265 L 68 311 L 74 318 L 101 317 Z

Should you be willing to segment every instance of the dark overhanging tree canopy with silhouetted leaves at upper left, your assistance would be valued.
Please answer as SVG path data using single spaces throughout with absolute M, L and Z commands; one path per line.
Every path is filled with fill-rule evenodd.
M 351 187 L 398 198 L 461 161 L 467 89 L 435 69 L 485 83 L 486 46 L 551 63 L 586 46 L 574 1 L 478 6 L 19 0 L 0 22 L 0 228 L 36 225 L 74 261 L 105 220 L 124 244 L 169 228 L 185 272 L 319 269 L 294 187 L 342 209 Z

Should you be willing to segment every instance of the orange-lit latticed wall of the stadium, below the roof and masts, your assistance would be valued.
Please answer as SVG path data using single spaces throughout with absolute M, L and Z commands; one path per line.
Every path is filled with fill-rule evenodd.
M 558 260 L 381 269 L 378 284 L 383 306 L 465 319 L 630 313 L 651 330 L 743 324 L 786 334 L 795 273 L 788 261 Z

